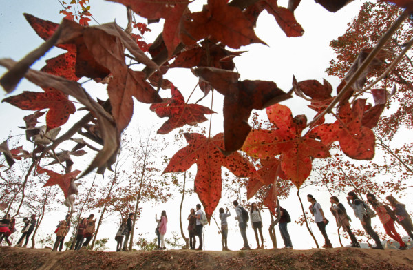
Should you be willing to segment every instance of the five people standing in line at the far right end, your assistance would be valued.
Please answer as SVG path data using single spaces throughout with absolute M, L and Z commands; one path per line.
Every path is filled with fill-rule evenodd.
M 392 209 L 390 209 L 390 207 L 387 207 L 386 205 L 383 205 L 383 203 L 380 203 L 379 200 L 377 200 L 376 196 L 374 196 L 374 194 L 372 193 L 366 194 L 366 198 L 368 203 L 372 205 L 374 211 L 372 211 L 372 209 L 370 209 L 370 207 L 366 203 L 364 203 L 363 200 L 361 200 L 354 191 L 350 191 L 348 193 L 347 202 L 348 205 L 352 207 L 354 215 L 357 218 L 359 218 L 364 231 L 366 231 L 366 233 L 376 243 L 376 246 L 372 248 L 383 249 L 383 245 L 381 244 L 379 235 L 376 231 L 374 231 L 371 225 L 371 218 L 373 218 L 377 214 L 388 236 L 396 240 L 396 242 L 399 242 L 399 249 L 405 250 L 405 242 L 403 242 L 400 234 L 396 231 L 396 228 L 394 227 L 394 222 L 399 222 L 399 224 L 407 232 L 407 235 L 410 236 L 410 238 L 412 238 L 413 240 L 413 223 L 412 219 L 410 218 L 410 215 L 407 213 L 405 209 L 405 205 L 400 203 L 398 200 L 396 200 L 396 198 L 394 198 L 391 195 L 387 196 L 386 199 L 390 203 Z M 323 209 L 321 208 L 321 205 L 317 203 L 317 200 L 311 194 L 308 194 L 307 200 L 310 203 L 309 209 L 311 214 L 313 214 L 314 216 L 315 223 L 317 224 L 317 227 L 319 228 L 321 234 L 324 236 L 325 243 L 323 247 L 332 247 L 330 239 L 328 238 L 326 232 L 326 225 L 328 224 L 328 220 L 324 214 Z M 347 214 L 346 207 L 344 207 L 344 205 L 339 202 L 339 199 L 336 196 L 332 196 L 330 198 L 330 202 L 330 211 L 335 217 L 337 227 L 342 227 L 348 233 L 348 236 L 352 241 L 352 247 L 360 247 L 359 241 L 350 229 L 351 220 Z

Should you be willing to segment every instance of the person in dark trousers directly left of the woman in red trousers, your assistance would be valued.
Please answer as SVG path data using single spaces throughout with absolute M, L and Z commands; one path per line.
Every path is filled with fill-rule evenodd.
M 376 247 L 372 247 L 372 249 L 384 249 L 379 236 L 372 228 L 372 216 L 375 216 L 374 211 L 372 213 L 368 211 L 370 207 L 360 200 L 354 191 L 348 192 L 347 203 L 352 207 L 354 216 L 359 218 L 364 231 L 376 242 Z

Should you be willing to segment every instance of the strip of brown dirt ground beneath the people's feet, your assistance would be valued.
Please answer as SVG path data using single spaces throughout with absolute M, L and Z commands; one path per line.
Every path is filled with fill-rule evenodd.
M 413 250 L 65 251 L 0 247 L 0 269 L 413 269 Z

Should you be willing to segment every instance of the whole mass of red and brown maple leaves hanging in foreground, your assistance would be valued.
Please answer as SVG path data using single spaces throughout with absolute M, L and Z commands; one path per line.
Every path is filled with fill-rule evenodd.
M 171 158 L 164 171 L 182 172 L 194 163 L 197 164 L 195 192 L 200 197 L 208 218 L 221 198 L 222 166 L 235 176 L 251 179 L 251 184 L 248 183 L 248 197 L 251 197 L 260 189 L 261 184 L 257 182 L 276 187 L 277 178 L 291 180 L 299 188 L 310 175 L 313 159 L 330 156 L 328 147 L 334 142 L 339 142 L 343 153 L 350 158 L 373 158 L 375 141 L 371 129 L 377 125 L 390 95 L 386 94 L 385 89 L 372 92 L 375 101 L 373 106 L 358 98 L 357 92 L 366 83 L 370 70 L 379 67 L 388 58 L 387 51 L 377 52 L 373 48 L 361 50 L 337 87 L 337 96 L 332 95 L 332 86 L 327 81 L 321 84 L 315 80 L 297 82 L 294 79 L 293 92 L 310 101 L 309 107 L 317 112 L 313 121 L 307 123 L 306 116 L 293 117 L 288 107 L 277 104 L 291 98 L 291 92 L 280 90 L 273 81 L 240 81 L 240 74 L 233 72 L 233 58 L 240 56 L 242 52 L 226 49 L 239 49 L 251 43 L 265 44 L 254 32 L 257 17 L 264 10 L 273 15 L 288 37 L 304 34 L 294 17 L 300 1 L 290 1 L 288 8 L 283 8 L 278 6 L 276 0 L 234 0 L 230 3 L 226 0 L 208 0 L 199 12 L 189 10 L 189 0 L 113 1 L 131 8 L 148 21 L 165 19 L 162 33 L 149 48 L 139 45 L 136 35 L 122 30 L 115 23 L 86 26 L 87 20 L 83 19 L 83 23 L 79 21 L 80 24 L 63 20 L 58 25 L 26 14 L 32 28 L 46 42 L 18 63 L 10 59 L 0 60 L 0 65 L 9 69 L 0 79 L 7 92 L 12 92 L 23 76 L 44 91 L 23 92 L 4 101 L 22 110 L 48 109 L 45 129 L 34 125 L 36 136 L 47 141 L 42 141 L 43 147 L 36 148 L 39 155 L 35 156 L 34 161 L 39 162 L 47 153 L 52 153 L 58 163 L 62 163 L 61 157 L 66 157 L 66 174 L 59 176 L 59 180 L 53 180 L 55 177 L 51 172 L 40 169 L 41 173 L 49 174 L 51 183 L 65 186 L 65 196 L 75 191 L 68 191 L 67 183 L 78 174 L 76 171 L 70 172 L 70 154 L 76 155 L 80 145 L 84 147 L 87 144 L 77 141 L 80 144 L 78 147 L 60 155 L 55 154 L 54 149 L 78 132 L 102 145 L 102 149 L 98 150 L 98 155 L 82 175 L 96 168 L 99 173 L 103 173 L 107 167 L 111 167 L 118 155 L 120 136 L 129 125 L 134 111 L 133 97 L 139 102 L 152 104 L 151 110 L 158 116 L 169 117 L 159 129 L 160 134 L 207 120 L 204 114 L 212 114 L 212 110 L 188 104 L 171 82 L 162 79 L 168 70 L 178 67 L 191 68 L 199 79 L 204 96 L 212 90 L 224 96 L 224 133 L 209 137 L 196 133 L 185 134 L 188 145 Z M 341 9 L 347 2 L 319 1 L 331 12 Z M 388 2 L 412 8 L 409 1 Z M 72 1 L 71 4 L 80 5 L 82 13 L 88 12 L 86 1 Z M 70 17 L 69 12 L 66 15 Z M 147 25 L 136 22 L 133 27 L 138 28 L 140 34 L 148 30 Z M 30 70 L 30 65 L 53 46 L 67 52 L 46 61 L 46 66 L 41 71 Z M 145 54 L 146 49 L 150 57 Z M 131 55 L 125 53 L 125 50 Z M 130 64 L 126 63 L 127 58 L 131 59 L 132 64 L 143 65 L 143 69 L 132 70 Z M 172 60 L 173 63 L 169 63 Z M 107 83 L 109 99 L 94 101 L 81 84 L 77 83 L 82 77 Z M 172 98 L 162 99 L 159 91 L 161 87 L 170 88 Z M 57 138 L 59 132 L 54 131 L 76 112 L 69 96 L 76 98 L 89 113 Z M 336 107 L 337 113 L 333 112 L 333 107 Z M 248 118 L 252 110 L 264 108 L 271 121 L 271 128 L 251 130 Z M 35 120 L 39 117 L 36 114 L 41 112 L 32 116 Z M 325 123 L 325 114 L 331 114 L 336 119 L 335 122 Z M 26 129 L 31 138 L 32 126 Z M 48 144 L 51 145 L 45 146 Z M 251 160 L 237 152 L 240 149 L 249 156 L 260 159 L 259 171 Z M 273 189 L 268 192 L 264 203 L 273 209 L 276 197 L 277 191 Z

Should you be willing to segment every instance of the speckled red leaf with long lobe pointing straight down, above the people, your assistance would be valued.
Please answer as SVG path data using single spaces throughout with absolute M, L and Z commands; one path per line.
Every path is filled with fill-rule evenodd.
M 185 133 L 189 145 L 173 155 L 165 168 L 166 172 L 184 172 L 194 163 L 198 169 L 195 176 L 194 190 L 198 194 L 208 220 L 221 198 L 221 167 L 229 169 L 237 177 L 258 177 L 255 167 L 240 153 L 224 156 L 220 151 L 224 147 L 224 134 L 207 138 L 198 133 Z

